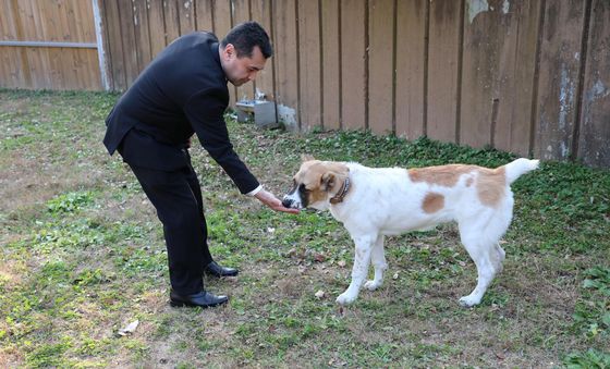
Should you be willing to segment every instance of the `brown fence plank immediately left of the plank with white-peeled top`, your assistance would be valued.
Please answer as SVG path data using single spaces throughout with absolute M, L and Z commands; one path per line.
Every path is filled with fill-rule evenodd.
M 426 134 L 449 143 L 456 140 L 461 7 L 461 1 L 434 1 L 429 13 Z

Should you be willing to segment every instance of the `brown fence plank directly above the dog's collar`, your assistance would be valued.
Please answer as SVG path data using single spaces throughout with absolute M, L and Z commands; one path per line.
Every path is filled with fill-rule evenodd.
M 366 127 L 366 2 L 341 1 L 341 86 L 343 127 Z

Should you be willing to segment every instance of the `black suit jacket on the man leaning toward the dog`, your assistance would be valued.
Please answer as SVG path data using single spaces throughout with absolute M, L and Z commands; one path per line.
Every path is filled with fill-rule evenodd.
M 187 165 L 186 142 L 197 134 L 203 147 L 246 194 L 259 183 L 240 160 L 223 119 L 229 104 L 218 39 L 197 32 L 170 44 L 139 74 L 106 120 L 103 144 L 135 165 L 176 170 Z M 133 130 L 133 131 L 132 131 Z M 130 132 L 129 149 L 121 143 Z

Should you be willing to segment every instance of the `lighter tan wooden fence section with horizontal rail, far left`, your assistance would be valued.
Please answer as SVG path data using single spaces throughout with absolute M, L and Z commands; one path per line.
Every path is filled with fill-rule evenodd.
M 0 0 L 0 87 L 101 89 L 90 0 Z

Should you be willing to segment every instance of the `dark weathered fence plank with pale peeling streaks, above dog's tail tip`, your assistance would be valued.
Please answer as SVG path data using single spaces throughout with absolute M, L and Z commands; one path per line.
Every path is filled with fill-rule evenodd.
M 584 2 L 547 1 L 540 51 L 537 138 L 542 159 L 568 159 L 576 121 Z

